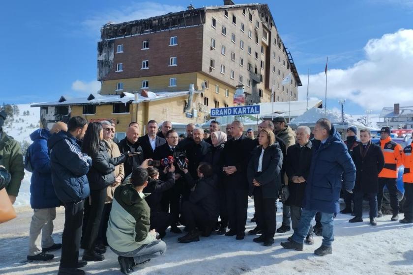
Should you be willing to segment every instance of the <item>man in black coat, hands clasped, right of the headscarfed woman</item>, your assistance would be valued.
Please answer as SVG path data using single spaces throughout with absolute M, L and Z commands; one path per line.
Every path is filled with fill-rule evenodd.
M 236 240 L 245 237 L 245 223 L 248 209 L 247 168 L 254 148 L 254 140 L 243 135 L 244 125 L 234 121 L 231 124 L 231 136 L 225 143 L 221 154 L 224 171 L 224 188 L 227 195 L 229 227 L 226 236 L 235 236 Z

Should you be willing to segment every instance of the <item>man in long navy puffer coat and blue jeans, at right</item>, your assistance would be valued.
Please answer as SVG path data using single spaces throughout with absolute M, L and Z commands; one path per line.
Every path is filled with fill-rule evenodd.
M 321 212 L 323 243 L 314 253 L 324 256 L 332 253 L 334 240 L 334 213 L 339 212 L 340 189 L 352 192 L 355 181 L 355 166 L 340 134 L 326 118 L 317 121 L 314 127 L 313 156 L 307 186 L 305 188 L 303 211 L 298 228 L 291 241 L 281 243 L 287 249 L 302 251 L 305 236 L 317 211 Z

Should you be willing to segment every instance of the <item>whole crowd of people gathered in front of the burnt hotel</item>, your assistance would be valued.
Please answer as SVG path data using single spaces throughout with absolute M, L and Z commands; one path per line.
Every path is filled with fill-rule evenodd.
M 0 127 L 5 118 L 0 112 Z M 178 135 L 169 121 L 148 121 L 142 137 L 140 127 L 131 122 L 126 137 L 117 140 L 113 121 L 88 123 L 75 116 L 67 124 L 34 131 L 25 162 L 18 143 L 0 128 L 0 184 L 11 202 L 24 167 L 32 170 L 29 261 L 51 260 L 49 252 L 61 249 L 59 275 L 83 275 L 80 268 L 104 260 L 109 247 L 118 255 L 121 272 L 129 274 L 166 251 L 166 234 L 183 230 L 177 238 L 182 244 L 211 234 L 243 240 L 248 197 L 254 200 L 257 226 L 247 234 L 260 235 L 255 243 L 272 246 L 276 232 L 292 228 L 282 247 L 303 250 L 304 242 L 314 244 L 316 234 L 323 242 L 314 253 L 331 254 L 336 214 L 353 214 L 350 222 L 363 221 L 364 198 L 370 224 L 376 225 L 376 217 L 384 215 L 384 186 L 390 193 L 391 220 L 398 220 L 400 165 L 405 166 L 406 195 L 400 222 L 413 223 L 412 145 L 401 148 L 391 140 L 388 127 L 381 129 L 377 144 L 368 129 L 360 131 L 358 140 L 355 127 L 347 129 L 343 142 L 324 118 L 313 133 L 307 126 L 294 131 L 283 117 L 264 120 L 257 137 L 239 121 L 229 123 L 226 131 L 215 120 L 207 131 L 190 123 L 186 136 Z M 341 193 L 345 208 L 340 211 Z M 279 199 L 283 219 L 276 228 Z M 58 244 L 52 233 L 60 205 L 65 222 Z

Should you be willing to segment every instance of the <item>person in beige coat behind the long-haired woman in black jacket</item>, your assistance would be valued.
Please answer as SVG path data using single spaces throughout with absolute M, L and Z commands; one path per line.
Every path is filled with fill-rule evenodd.
M 106 144 L 109 156 L 111 158 L 119 157 L 119 147 L 113 141 L 115 135 L 115 127 L 112 126 L 112 124 L 107 120 L 101 121 L 100 123 L 103 126 L 103 141 Z M 116 179 L 115 182 L 107 188 L 105 207 L 103 209 L 102 221 L 100 223 L 99 235 L 96 245 L 97 250 L 101 250 L 102 252 L 105 251 L 106 246 L 108 246 L 108 242 L 106 240 L 106 229 L 108 228 L 109 214 L 111 213 L 112 209 L 113 194 L 115 192 L 115 189 L 120 185 L 120 183 L 123 181 L 123 178 L 125 177 L 123 164 L 115 166 L 114 173 Z

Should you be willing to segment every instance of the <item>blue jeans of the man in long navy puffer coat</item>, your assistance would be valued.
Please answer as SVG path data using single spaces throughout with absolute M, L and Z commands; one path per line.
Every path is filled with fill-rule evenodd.
M 306 210 L 303 208 L 301 220 L 298 223 L 298 228 L 294 230 L 293 241 L 299 244 L 304 244 L 304 239 L 311 227 L 311 220 L 316 216 L 316 210 Z M 334 213 L 321 212 L 321 224 L 323 225 L 323 242 L 325 247 L 331 247 L 334 241 Z

